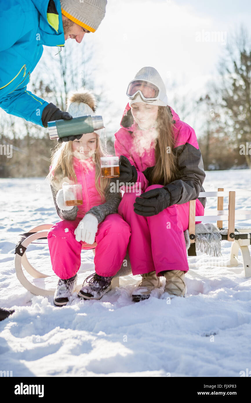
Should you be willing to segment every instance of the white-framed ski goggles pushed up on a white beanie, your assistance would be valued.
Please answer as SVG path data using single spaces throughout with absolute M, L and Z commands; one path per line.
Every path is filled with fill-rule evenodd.
M 163 102 L 167 102 L 167 96 L 160 91 L 159 87 L 151 81 L 146 80 L 132 80 L 127 87 L 127 96 L 129 99 L 133 99 L 137 93 L 140 93 L 144 101 L 157 101 L 160 99 Z

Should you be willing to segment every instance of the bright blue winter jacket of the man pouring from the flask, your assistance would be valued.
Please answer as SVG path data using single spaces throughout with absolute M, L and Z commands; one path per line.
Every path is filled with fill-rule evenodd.
M 27 91 L 43 45 L 64 46 L 60 0 L 0 0 L 0 107 L 43 127 L 48 102 Z

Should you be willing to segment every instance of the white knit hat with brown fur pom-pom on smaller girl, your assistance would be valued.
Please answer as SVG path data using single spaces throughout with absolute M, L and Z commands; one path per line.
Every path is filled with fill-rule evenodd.
M 69 94 L 66 101 L 66 112 L 73 116 L 73 118 L 85 115 L 95 116 L 96 105 L 97 102 L 93 93 L 88 89 L 81 88 Z M 97 133 L 100 137 L 101 130 L 94 130 L 94 133 Z

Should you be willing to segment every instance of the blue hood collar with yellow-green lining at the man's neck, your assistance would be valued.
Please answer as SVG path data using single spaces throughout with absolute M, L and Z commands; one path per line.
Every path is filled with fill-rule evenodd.
M 40 44 L 47 46 L 64 46 L 65 39 L 60 0 L 31 0 L 31 2 L 40 14 Z

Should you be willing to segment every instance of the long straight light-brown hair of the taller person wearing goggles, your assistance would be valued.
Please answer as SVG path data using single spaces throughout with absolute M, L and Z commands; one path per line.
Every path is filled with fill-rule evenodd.
M 178 168 L 173 154 L 175 121 L 169 106 L 159 106 L 157 116 L 158 138 L 155 147 L 156 165 L 151 174 L 152 184 L 167 185 L 177 179 Z

